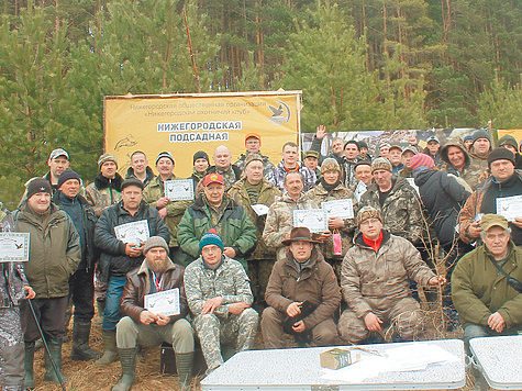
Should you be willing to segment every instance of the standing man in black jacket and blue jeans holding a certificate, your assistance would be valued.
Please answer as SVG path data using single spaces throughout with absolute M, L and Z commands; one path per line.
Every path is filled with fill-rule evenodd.
M 95 244 L 100 249 L 101 278 L 108 281 L 107 305 L 103 312 L 104 354 L 96 361 L 104 366 L 116 360 L 115 327 L 120 321 L 120 298 L 125 275 L 142 265 L 144 244 L 151 236 L 169 239 L 168 228 L 156 208 L 143 201 L 143 183 L 125 179 L 122 199 L 103 211 L 95 230 Z

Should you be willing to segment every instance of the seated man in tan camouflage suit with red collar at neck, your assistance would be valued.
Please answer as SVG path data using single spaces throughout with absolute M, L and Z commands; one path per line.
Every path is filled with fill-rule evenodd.
M 421 286 L 445 283 L 407 239 L 382 230 L 380 212 L 371 206 L 357 214 L 359 233 L 341 269 L 341 289 L 348 309 L 338 320 L 340 336 L 358 344 L 392 325 L 396 340 L 413 340 L 421 331 L 419 302 L 408 278 Z

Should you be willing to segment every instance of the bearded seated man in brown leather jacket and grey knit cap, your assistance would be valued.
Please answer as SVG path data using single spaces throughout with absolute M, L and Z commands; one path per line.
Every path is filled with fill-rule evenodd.
M 137 340 L 144 345 L 173 344 L 176 353 L 179 390 L 190 390 L 193 365 L 193 329 L 186 320 L 187 298 L 184 287 L 184 267 L 168 257 L 168 246 L 160 236 L 152 236 L 143 247 L 145 256 L 140 268 L 126 275 L 120 302 L 123 317 L 116 324 L 116 345 L 122 366 L 122 378 L 112 389 L 126 391 L 134 383 Z M 179 314 L 165 315 L 145 309 L 145 295 L 179 289 Z

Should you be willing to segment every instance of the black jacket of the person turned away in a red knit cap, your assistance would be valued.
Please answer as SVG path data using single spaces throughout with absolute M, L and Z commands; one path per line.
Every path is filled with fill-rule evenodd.
M 458 235 L 455 232 L 458 213 L 470 193 L 453 176 L 433 168 L 415 172 L 415 185 L 438 242 L 443 246 L 451 244 Z

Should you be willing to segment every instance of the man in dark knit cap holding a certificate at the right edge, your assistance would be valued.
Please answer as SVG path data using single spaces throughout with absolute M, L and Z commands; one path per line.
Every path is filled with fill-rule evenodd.
M 458 216 L 460 238 L 466 243 L 478 241 L 480 216 L 497 213 L 509 221 L 513 243 L 522 246 L 522 174 L 514 169 L 514 155 L 507 148 L 495 148 L 488 165 L 491 176 L 469 196 Z

